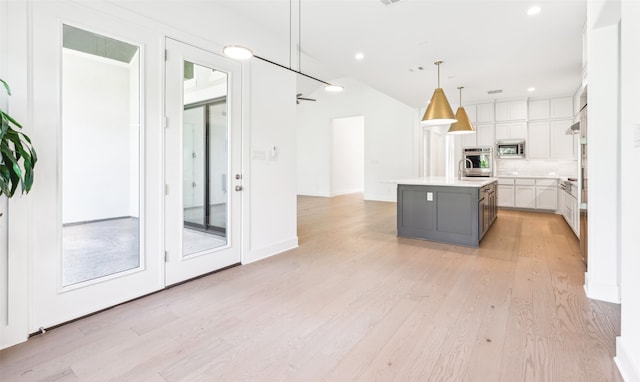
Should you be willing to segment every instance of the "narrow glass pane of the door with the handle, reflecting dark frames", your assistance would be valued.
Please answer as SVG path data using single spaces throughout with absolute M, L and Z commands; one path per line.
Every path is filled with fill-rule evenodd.
M 191 255 L 227 245 L 227 74 L 189 61 L 183 67 L 182 237 Z

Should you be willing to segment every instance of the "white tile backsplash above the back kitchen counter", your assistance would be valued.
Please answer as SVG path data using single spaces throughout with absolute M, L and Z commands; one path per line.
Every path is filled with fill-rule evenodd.
M 495 176 L 577 177 L 577 160 L 496 159 Z

